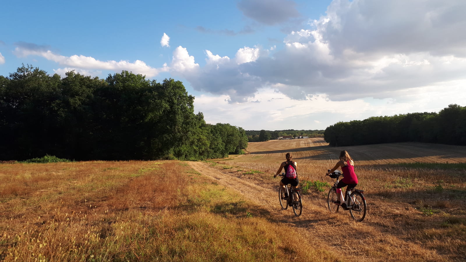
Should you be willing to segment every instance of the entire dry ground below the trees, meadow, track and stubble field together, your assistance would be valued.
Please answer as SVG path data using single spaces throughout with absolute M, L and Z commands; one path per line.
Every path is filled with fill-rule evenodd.
M 365 190 L 363 222 L 326 207 L 324 174 L 342 149 Z M 300 217 L 278 202 L 286 152 L 314 185 Z M 1 164 L 0 261 L 464 261 L 465 163 L 460 146 L 309 138 L 203 162 Z

